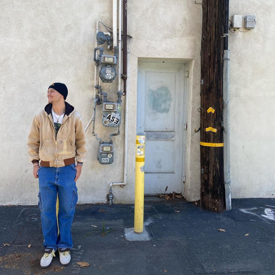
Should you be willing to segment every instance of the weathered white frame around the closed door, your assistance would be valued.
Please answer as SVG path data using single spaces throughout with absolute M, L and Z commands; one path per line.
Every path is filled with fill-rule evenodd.
M 181 58 L 154 58 L 154 57 L 138 57 L 138 70 L 137 70 L 137 83 L 138 83 L 138 75 L 139 75 L 139 65 L 141 63 L 181 63 L 183 70 L 183 79 L 180 79 L 180 84 L 183 84 L 183 114 L 185 117 L 185 121 L 183 122 L 183 128 L 182 128 L 182 138 L 183 138 L 183 148 L 182 148 L 182 195 L 184 196 L 185 192 L 185 179 L 186 179 L 186 173 L 185 173 L 185 157 L 186 157 L 186 132 L 187 132 L 187 123 L 188 123 L 188 117 L 187 117 L 187 102 L 188 102 L 188 78 L 189 78 L 189 61 L 186 59 Z M 138 94 L 138 86 L 137 86 L 137 97 Z M 138 106 L 137 106 L 138 108 Z M 138 120 L 138 117 L 136 116 L 136 121 Z M 146 147 L 145 147 L 146 150 Z M 156 196 L 158 194 L 144 194 L 144 196 Z

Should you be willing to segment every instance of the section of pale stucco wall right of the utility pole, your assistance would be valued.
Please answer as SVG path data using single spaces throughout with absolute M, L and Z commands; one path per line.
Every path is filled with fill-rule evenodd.
M 230 15 L 257 15 L 255 29 L 229 33 L 232 197 L 275 197 L 274 2 L 230 3 Z

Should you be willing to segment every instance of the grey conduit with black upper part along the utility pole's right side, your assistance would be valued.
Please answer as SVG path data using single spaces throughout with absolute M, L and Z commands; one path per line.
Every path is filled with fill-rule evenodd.
M 228 25 L 229 25 L 229 0 L 225 0 L 224 57 L 223 57 L 223 127 L 224 127 L 224 186 L 226 210 L 231 210 L 230 190 L 230 147 L 229 147 L 229 50 L 228 50 Z

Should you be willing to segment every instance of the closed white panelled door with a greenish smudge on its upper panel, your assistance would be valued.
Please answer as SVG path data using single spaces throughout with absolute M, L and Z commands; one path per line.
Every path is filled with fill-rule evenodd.
M 139 62 L 137 133 L 145 133 L 145 194 L 182 192 L 186 64 Z

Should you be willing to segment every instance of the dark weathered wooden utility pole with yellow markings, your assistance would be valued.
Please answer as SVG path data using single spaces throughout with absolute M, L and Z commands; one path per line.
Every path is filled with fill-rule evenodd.
M 223 163 L 223 50 L 225 5 L 223 0 L 202 1 L 200 89 L 200 205 L 224 209 Z

